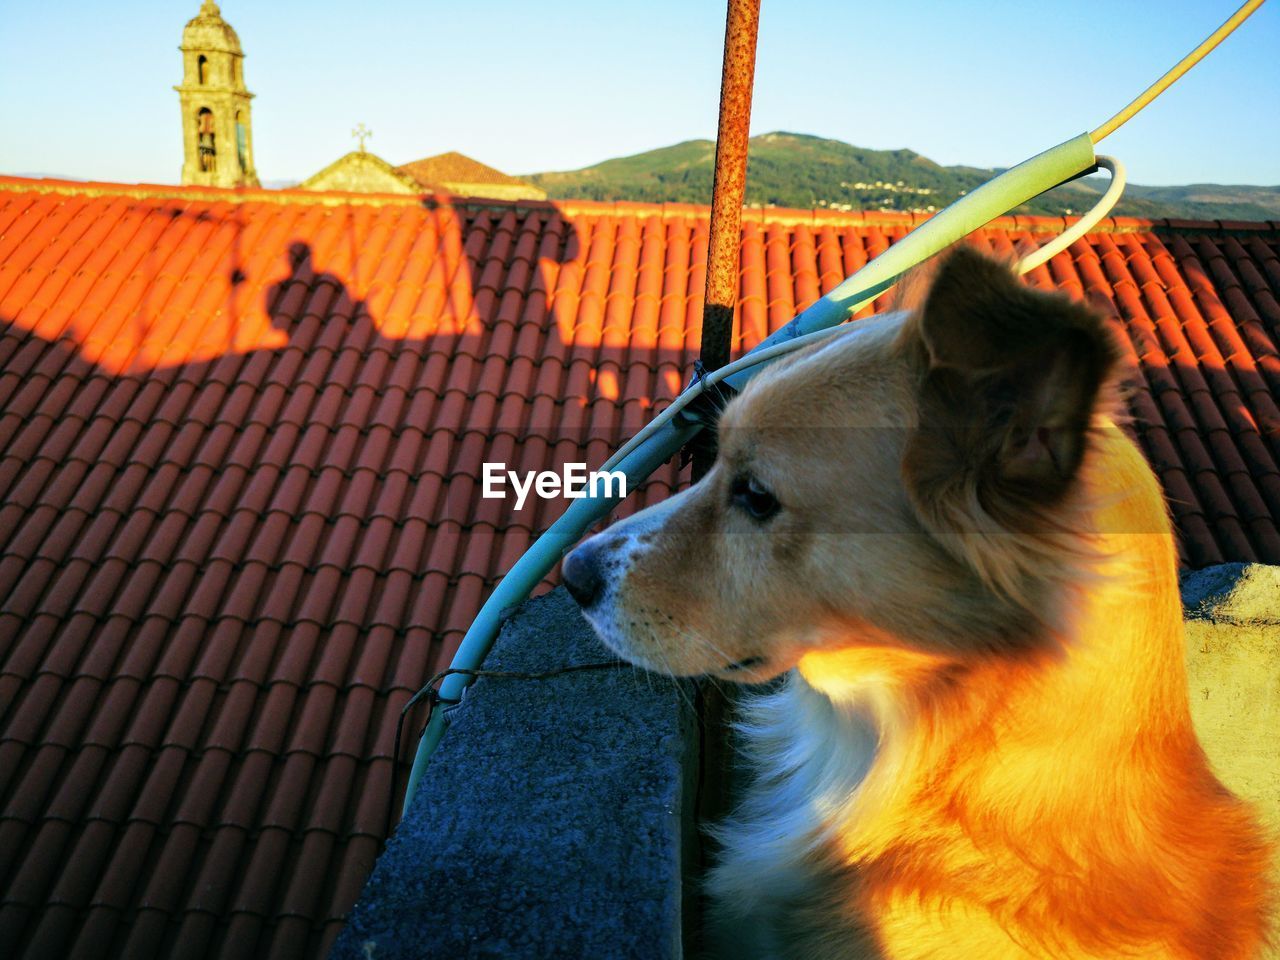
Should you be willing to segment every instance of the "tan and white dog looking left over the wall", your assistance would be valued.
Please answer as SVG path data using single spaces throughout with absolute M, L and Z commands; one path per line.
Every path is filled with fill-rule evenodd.
M 584 541 L 607 646 L 772 684 L 716 829 L 718 955 L 1244 960 L 1272 849 L 1192 730 L 1120 351 L 969 247 L 724 406 L 694 486 Z

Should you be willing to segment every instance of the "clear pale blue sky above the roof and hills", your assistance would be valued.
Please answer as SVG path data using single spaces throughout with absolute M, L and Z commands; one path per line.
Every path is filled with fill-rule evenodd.
M 1092 129 L 1236 0 L 764 0 L 751 128 L 1007 166 Z M 198 0 L 0 0 L 0 172 L 172 183 Z M 265 180 L 374 131 L 508 173 L 712 137 L 722 0 L 225 0 Z M 1108 138 L 1135 183 L 1280 184 L 1280 3 Z

